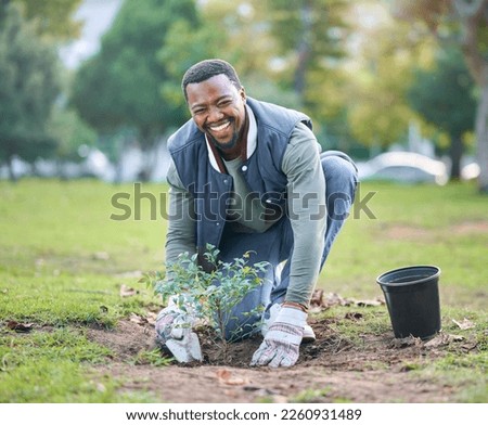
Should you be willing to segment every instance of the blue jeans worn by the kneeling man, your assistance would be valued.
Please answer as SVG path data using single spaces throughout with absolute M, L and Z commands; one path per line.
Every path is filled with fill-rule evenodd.
M 325 199 L 328 203 L 328 222 L 324 249 L 320 270 L 331 252 L 332 244 L 343 227 L 355 199 L 357 186 L 357 168 L 344 153 L 328 151 L 321 155 L 322 169 L 325 176 Z M 282 302 L 290 284 L 288 261 L 293 252 L 293 231 L 290 218 L 283 216 L 275 224 L 264 233 L 236 233 L 226 229 L 219 246 L 220 259 L 224 262 L 241 258 L 248 250 L 256 254 L 249 258 L 249 265 L 268 261 L 270 267 L 266 273 L 265 284 L 247 294 L 236 305 L 227 324 L 226 338 L 240 339 L 251 335 L 253 326 L 260 315 L 249 317 L 246 312 L 259 305 L 266 307 Z M 285 261 L 281 273 L 278 266 Z

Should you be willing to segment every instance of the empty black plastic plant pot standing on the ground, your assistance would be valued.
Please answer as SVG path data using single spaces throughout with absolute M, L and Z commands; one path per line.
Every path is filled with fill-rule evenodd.
M 410 266 L 377 276 L 395 337 L 428 339 L 440 331 L 440 269 Z

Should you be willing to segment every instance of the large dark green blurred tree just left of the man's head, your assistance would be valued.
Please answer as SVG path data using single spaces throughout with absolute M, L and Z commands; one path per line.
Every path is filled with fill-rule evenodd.
M 157 59 L 168 29 L 181 21 L 196 23 L 192 0 L 126 0 L 100 52 L 81 65 L 75 79 L 72 102 L 81 117 L 105 133 L 133 127 L 144 151 L 181 123 L 182 108 L 160 94 L 160 86 L 171 78 L 170 62 Z

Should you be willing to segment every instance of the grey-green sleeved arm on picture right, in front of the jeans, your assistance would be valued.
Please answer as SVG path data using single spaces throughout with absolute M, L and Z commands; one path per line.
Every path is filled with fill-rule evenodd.
M 319 275 L 328 211 L 320 145 L 301 123 L 292 133 L 282 169 L 288 179 L 288 215 L 294 235 L 285 301 L 308 307 Z

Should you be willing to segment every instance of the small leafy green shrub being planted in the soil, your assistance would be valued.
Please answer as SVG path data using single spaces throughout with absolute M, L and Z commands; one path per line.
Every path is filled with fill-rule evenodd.
M 142 281 L 162 296 L 163 302 L 171 300 L 183 312 L 193 315 L 203 324 L 209 325 L 215 333 L 215 343 L 221 348 L 224 361 L 228 359 L 228 343 L 232 343 L 253 331 L 259 321 L 252 323 L 252 318 L 262 313 L 264 306 L 258 306 L 245 313 L 248 323 L 241 323 L 231 335 L 226 335 L 226 329 L 231 320 L 232 309 L 244 297 L 264 283 L 262 275 L 269 262 L 248 265 L 252 253 L 232 262 L 218 259 L 219 249 L 213 245 L 206 246 L 205 260 L 213 266 L 211 272 L 206 272 L 197 265 L 197 255 L 181 254 L 178 260 L 166 266 L 166 272 L 146 273 Z M 245 332 L 244 332 L 245 331 Z

